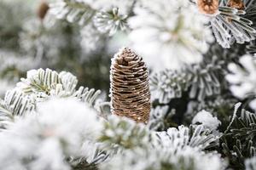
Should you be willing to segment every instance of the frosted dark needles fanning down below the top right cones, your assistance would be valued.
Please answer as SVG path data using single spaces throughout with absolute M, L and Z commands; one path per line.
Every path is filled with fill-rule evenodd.
M 253 22 L 245 15 L 251 3 L 246 5 L 245 10 L 241 10 L 241 6 L 231 1 L 222 1 L 218 7 L 218 14 L 210 16 L 214 36 L 223 48 L 230 48 L 234 42 L 244 43 L 255 39 L 256 30 L 253 28 Z

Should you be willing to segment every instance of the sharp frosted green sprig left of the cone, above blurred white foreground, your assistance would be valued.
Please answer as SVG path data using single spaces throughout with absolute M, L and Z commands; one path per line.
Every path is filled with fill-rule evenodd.
M 26 95 L 37 96 L 37 99 L 49 99 L 51 96 L 75 97 L 92 106 L 100 90 L 79 87 L 78 80 L 70 72 L 57 73 L 50 69 L 28 71 L 26 78 L 21 78 L 17 87 Z

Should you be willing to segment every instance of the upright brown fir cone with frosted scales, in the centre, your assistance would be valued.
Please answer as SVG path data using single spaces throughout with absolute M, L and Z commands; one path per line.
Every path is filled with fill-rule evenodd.
M 148 70 L 143 59 L 129 48 L 122 48 L 112 59 L 111 110 L 113 114 L 148 122 L 150 92 Z

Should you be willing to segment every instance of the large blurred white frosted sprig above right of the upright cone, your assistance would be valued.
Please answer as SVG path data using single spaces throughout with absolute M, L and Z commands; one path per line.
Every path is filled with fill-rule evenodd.
M 206 26 L 209 20 L 194 4 L 187 0 L 144 0 L 142 6 L 137 5 L 135 15 L 128 20 L 133 29 L 129 37 L 154 71 L 180 70 L 201 62 L 213 37 Z

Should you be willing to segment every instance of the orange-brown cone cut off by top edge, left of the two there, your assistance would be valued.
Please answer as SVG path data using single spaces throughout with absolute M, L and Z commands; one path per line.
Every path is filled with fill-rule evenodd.
M 218 12 L 218 0 L 197 0 L 197 7 L 203 14 L 216 14 Z

